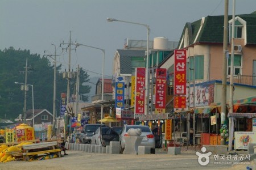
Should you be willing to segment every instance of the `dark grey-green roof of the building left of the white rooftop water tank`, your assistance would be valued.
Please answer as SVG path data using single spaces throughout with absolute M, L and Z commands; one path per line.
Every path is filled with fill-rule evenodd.
M 144 58 L 144 50 L 117 50 L 120 56 L 120 74 L 131 74 L 133 69 L 131 67 L 131 57 Z

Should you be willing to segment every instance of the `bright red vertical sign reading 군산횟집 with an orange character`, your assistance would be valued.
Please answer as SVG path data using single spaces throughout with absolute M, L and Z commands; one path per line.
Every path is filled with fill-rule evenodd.
M 186 95 L 186 62 L 186 50 L 174 50 L 174 95 Z

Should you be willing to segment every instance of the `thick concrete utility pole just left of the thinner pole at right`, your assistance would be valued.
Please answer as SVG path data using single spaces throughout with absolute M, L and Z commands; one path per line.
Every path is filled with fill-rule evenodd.
M 227 56 L 228 56 L 228 7 L 229 1 L 225 0 L 224 12 L 224 33 L 223 33 L 223 61 L 222 61 L 222 95 L 221 95 L 221 125 L 226 121 L 226 70 L 227 70 Z M 221 145 L 225 145 L 224 139 Z

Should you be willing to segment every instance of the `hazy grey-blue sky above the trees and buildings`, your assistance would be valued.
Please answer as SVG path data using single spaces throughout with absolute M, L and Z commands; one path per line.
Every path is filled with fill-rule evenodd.
M 68 63 L 68 52 L 62 52 L 60 42 L 69 41 L 105 49 L 105 78 L 112 76 L 115 51 L 122 49 L 126 38 L 146 40 L 147 30 L 141 25 L 121 22 L 115 18 L 150 25 L 150 40 L 167 37 L 179 41 L 186 22 L 208 15 L 224 15 L 224 0 L 0 0 L 0 49 L 13 46 L 43 56 L 44 50 L 58 61 Z M 232 15 L 229 1 L 229 15 Z M 237 0 L 236 14 L 256 10 L 255 0 Z M 49 54 L 49 53 L 47 53 Z M 102 74 L 102 52 L 80 46 L 71 52 L 71 67 L 79 64 L 90 77 Z M 25 65 L 24 61 L 24 65 Z M 29 61 L 28 61 L 29 63 Z M 68 69 L 64 64 L 63 69 Z M 96 74 L 98 73 L 98 74 Z

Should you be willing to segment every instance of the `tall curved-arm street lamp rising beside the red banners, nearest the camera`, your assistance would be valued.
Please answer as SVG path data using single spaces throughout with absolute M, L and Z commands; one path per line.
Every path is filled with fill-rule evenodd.
M 149 31 L 150 27 L 148 24 L 141 24 L 141 23 L 134 23 L 134 22 L 127 22 L 125 20 L 118 20 L 114 18 L 107 18 L 108 22 L 123 22 L 123 23 L 130 23 L 130 24 L 137 24 L 142 25 L 147 28 L 147 58 L 146 58 L 146 86 L 145 86 L 145 99 L 144 99 L 144 114 L 148 114 L 148 42 L 149 42 Z M 151 112 L 152 113 L 152 112 Z

